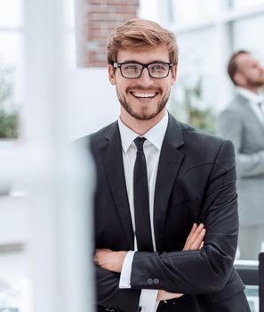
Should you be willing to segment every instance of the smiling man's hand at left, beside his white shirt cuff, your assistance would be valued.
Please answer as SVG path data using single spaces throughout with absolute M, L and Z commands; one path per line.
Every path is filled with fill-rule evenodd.
M 120 273 L 127 251 L 113 251 L 108 249 L 96 250 L 93 261 L 99 267 L 108 271 Z

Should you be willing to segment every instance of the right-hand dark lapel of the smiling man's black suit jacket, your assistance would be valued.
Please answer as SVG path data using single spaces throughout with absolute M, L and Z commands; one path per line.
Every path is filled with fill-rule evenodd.
M 164 246 L 166 210 L 168 208 L 172 186 L 184 158 L 183 154 L 177 150 L 182 144 L 183 136 L 180 123 L 169 114 L 169 123 L 164 136 L 156 174 L 154 199 L 156 250 L 162 250 Z

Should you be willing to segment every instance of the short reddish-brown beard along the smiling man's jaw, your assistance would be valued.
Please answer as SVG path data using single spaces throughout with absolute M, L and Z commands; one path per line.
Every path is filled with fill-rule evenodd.
M 150 114 L 144 113 L 144 112 L 141 114 L 138 114 L 136 111 L 133 110 L 132 105 L 128 103 L 128 101 L 126 101 L 124 95 L 122 96 L 121 94 L 119 94 L 117 88 L 116 88 L 116 94 L 117 94 L 119 102 L 124 107 L 124 110 L 127 111 L 134 119 L 138 119 L 138 120 L 154 119 L 161 111 L 164 110 L 164 107 L 166 106 L 166 103 L 168 102 L 169 97 L 170 97 L 170 92 L 168 94 L 165 94 L 164 98 L 161 98 L 160 101 L 157 103 L 156 111 Z

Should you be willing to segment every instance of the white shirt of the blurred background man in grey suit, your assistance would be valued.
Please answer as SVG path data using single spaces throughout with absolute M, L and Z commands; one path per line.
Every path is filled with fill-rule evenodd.
M 262 107 L 259 106 L 259 103 L 264 103 L 263 95 L 255 94 L 252 91 L 244 89 L 244 87 L 241 86 L 237 86 L 236 90 L 238 94 L 242 95 L 249 101 L 252 111 L 256 114 L 258 119 L 260 119 L 261 124 L 264 125 L 264 111 L 263 111 L 264 104 L 262 104 Z

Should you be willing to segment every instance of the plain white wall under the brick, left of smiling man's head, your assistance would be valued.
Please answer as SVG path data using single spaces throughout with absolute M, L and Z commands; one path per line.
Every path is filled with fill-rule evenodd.
M 107 68 L 72 70 L 68 83 L 70 139 L 90 134 L 117 119 L 119 102 L 116 87 L 108 81 Z

